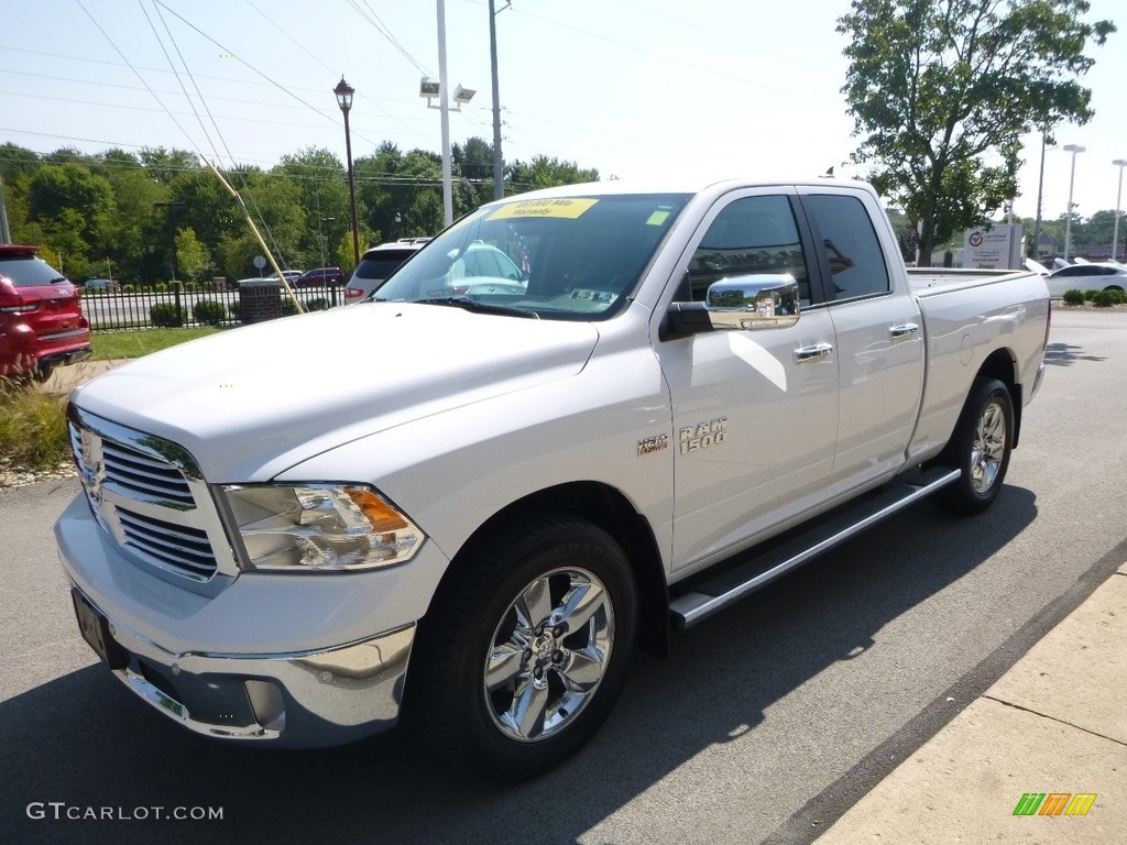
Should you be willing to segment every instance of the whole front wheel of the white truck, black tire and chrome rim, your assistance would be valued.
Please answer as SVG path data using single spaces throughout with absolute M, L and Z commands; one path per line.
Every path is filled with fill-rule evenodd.
M 491 780 L 533 777 L 594 735 L 637 634 L 625 553 L 568 515 L 502 533 L 461 560 L 419 628 L 405 719 Z

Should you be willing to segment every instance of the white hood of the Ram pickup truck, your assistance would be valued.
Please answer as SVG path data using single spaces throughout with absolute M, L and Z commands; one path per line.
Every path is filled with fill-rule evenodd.
M 178 443 L 208 481 L 266 481 L 358 437 L 575 375 L 597 339 L 584 322 L 349 305 L 149 355 L 72 401 Z

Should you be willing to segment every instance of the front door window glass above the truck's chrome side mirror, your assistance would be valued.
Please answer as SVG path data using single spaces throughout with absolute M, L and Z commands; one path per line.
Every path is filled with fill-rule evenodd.
M 689 261 L 689 297 L 699 302 L 708 286 L 731 276 L 789 273 L 799 297 L 810 304 L 806 257 L 784 196 L 749 196 L 729 203 L 709 226 Z

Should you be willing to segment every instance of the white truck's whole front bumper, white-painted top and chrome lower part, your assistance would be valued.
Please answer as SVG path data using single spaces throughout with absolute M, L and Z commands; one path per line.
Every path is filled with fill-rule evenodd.
M 125 557 L 82 493 L 55 537 L 76 605 L 90 608 L 82 628 L 105 620 L 118 679 L 190 730 L 287 747 L 340 745 L 398 721 L 426 586 L 449 564 L 427 543 L 408 566 L 216 576 L 201 595 Z

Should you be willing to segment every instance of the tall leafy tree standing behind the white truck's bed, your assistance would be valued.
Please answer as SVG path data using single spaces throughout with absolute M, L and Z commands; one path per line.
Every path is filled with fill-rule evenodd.
M 1092 117 L 1074 79 L 1111 21 L 1085 0 L 853 0 L 846 82 L 857 163 L 920 232 L 919 263 L 1018 190 L 1020 136 Z

